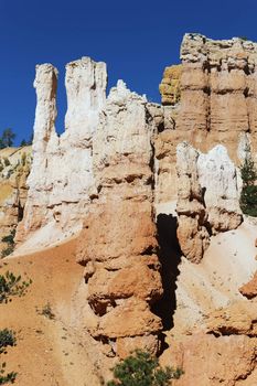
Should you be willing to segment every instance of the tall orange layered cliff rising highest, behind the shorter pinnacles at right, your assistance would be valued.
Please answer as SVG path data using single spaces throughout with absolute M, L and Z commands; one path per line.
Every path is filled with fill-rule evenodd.
M 174 120 L 174 129 L 162 131 L 156 140 L 159 203 L 176 199 L 175 148 L 183 140 L 202 152 L 224 144 L 236 165 L 242 161 L 246 136 L 251 153 L 257 150 L 257 44 L 242 39 L 214 41 L 185 34 L 181 61 L 181 100 L 175 108 L 167 110 L 167 120 L 168 117 Z M 161 88 L 164 105 L 173 98 L 173 89 L 164 86 L 169 83 L 167 72 L 162 81 L 165 94 Z M 171 187 L 165 185 L 167 180 L 173 181 Z

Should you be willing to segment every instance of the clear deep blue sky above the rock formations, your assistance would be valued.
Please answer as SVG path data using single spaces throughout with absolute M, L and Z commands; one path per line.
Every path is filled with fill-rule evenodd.
M 38 63 L 60 71 L 57 129 L 66 108 L 64 65 L 81 56 L 105 61 L 109 86 L 128 87 L 159 101 L 164 66 L 179 62 L 185 32 L 257 41 L 256 0 L 0 0 L 0 131 L 17 142 L 34 121 L 32 87 Z

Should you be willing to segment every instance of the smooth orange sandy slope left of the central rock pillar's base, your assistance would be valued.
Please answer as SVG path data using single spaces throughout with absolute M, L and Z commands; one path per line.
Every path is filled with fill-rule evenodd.
M 76 322 L 73 297 L 79 291 L 83 268 L 75 262 L 75 239 L 58 247 L 1 260 L 7 269 L 33 280 L 26 296 L 0 304 L 0 328 L 13 329 L 18 344 L 1 355 L 19 386 L 98 385 L 88 360 L 87 335 Z M 55 320 L 39 314 L 47 302 Z M 3 356 L 3 357 L 2 357 Z

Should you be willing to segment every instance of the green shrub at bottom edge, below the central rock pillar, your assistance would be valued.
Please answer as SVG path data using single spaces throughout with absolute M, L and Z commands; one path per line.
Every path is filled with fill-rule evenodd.
M 161 368 L 157 357 L 137 350 L 114 368 L 115 379 L 107 386 L 167 386 L 170 379 L 178 379 L 183 372 L 180 368 Z

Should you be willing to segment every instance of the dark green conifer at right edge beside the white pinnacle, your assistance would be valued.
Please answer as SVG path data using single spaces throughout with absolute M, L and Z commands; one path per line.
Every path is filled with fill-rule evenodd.
M 249 149 L 246 150 L 245 162 L 240 168 L 243 187 L 240 192 L 240 208 L 244 214 L 257 217 L 257 172 Z

